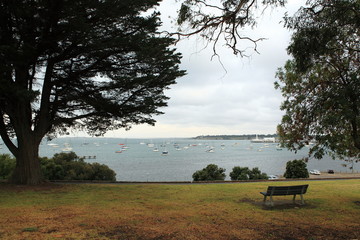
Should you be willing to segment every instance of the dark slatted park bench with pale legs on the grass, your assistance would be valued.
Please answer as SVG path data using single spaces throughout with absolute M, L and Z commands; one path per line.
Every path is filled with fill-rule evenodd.
M 293 202 L 295 203 L 296 195 L 300 195 L 301 204 L 304 204 L 303 194 L 306 193 L 306 190 L 309 185 L 296 185 L 296 186 L 269 186 L 266 192 L 260 192 L 264 195 L 264 204 L 266 203 L 267 196 L 270 196 L 270 205 L 274 206 L 272 196 L 285 196 L 293 195 Z

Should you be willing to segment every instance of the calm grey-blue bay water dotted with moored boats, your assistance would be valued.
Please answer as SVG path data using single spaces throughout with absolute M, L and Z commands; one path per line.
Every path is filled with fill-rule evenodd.
M 159 151 L 153 151 L 154 148 L 147 144 L 153 144 Z M 287 161 L 306 157 L 308 151 L 304 149 L 295 154 L 286 149 L 277 150 L 277 144 L 245 140 L 58 138 L 44 142 L 40 146 L 40 156 L 52 157 L 66 146 L 70 146 L 78 156 L 91 156 L 85 160 L 87 162 L 108 165 L 116 172 L 118 181 L 191 181 L 195 171 L 211 163 L 226 169 L 226 179 L 230 179 L 229 173 L 234 166 L 259 167 L 269 175 L 282 175 Z M 116 153 L 122 146 L 128 149 Z M 214 151 L 207 152 L 209 148 Z M 162 155 L 164 150 L 168 151 L 166 156 Z M 3 146 L 0 153 L 9 152 Z M 351 172 L 341 166 L 343 163 L 330 157 L 310 159 L 308 169 Z M 360 164 L 354 168 L 358 170 Z

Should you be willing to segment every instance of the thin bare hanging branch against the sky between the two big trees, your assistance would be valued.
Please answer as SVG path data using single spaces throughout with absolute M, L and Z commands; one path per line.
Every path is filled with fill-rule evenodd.
M 284 1 L 278 0 L 274 2 L 266 2 L 265 4 L 280 4 L 283 5 Z M 194 35 L 200 35 L 208 42 L 212 42 L 213 56 L 217 55 L 217 45 L 221 36 L 224 36 L 225 45 L 232 49 L 235 55 L 246 56 L 244 52 L 246 49 L 240 49 L 240 41 L 246 40 L 253 43 L 253 49 L 257 51 L 257 42 L 264 40 L 264 38 L 253 39 L 248 36 L 241 36 L 238 28 L 246 25 L 253 26 L 255 20 L 252 16 L 252 10 L 257 8 L 257 0 L 240 0 L 238 3 L 223 3 L 223 7 L 210 5 L 206 0 L 196 0 L 193 3 L 183 3 L 184 9 L 188 9 L 179 24 L 187 22 L 190 24 L 191 30 L 189 32 L 164 32 L 167 35 L 177 37 L 180 41 L 183 37 L 189 38 Z M 192 8 L 199 7 L 199 10 L 192 11 Z M 221 11 L 221 14 L 213 15 L 212 13 L 205 13 L 202 11 L 201 6 L 208 9 L 216 9 Z M 179 18 L 180 19 L 180 14 Z

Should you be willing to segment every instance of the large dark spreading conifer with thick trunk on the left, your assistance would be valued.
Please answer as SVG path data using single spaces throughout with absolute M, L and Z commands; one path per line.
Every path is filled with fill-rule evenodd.
M 157 32 L 158 3 L 0 0 L 0 134 L 17 159 L 13 182 L 41 182 L 46 135 L 154 124 L 184 74 L 173 39 Z

